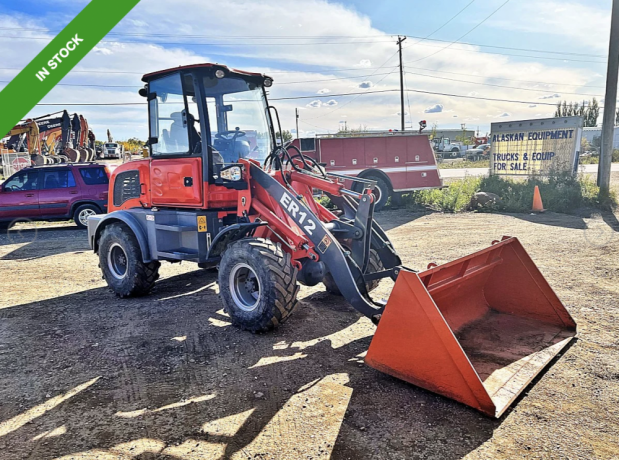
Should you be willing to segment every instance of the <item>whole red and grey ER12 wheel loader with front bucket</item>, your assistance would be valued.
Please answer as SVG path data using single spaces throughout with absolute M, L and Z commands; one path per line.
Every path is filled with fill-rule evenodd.
M 270 77 L 196 64 L 143 81 L 149 157 L 116 168 L 110 213 L 88 221 L 119 297 L 148 293 L 161 261 L 217 267 L 232 324 L 263 332 L 290 317 L 299 284 L 323 283 L 376 325 L 369 366 L 491 417 L 575 336 L 516 238 L 421 272 L 404 267 L 374 221 L 374 181 L 278 145 Z M 384 278 L 395 282 L 386 303 L 370 295 Z

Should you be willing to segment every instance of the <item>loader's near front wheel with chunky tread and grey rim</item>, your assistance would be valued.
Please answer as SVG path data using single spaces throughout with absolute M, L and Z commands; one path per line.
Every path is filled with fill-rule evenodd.
M 279 245 L 243 238 L 221 258 L 219 292 L 234 326 L 268 331 L 286 321 L 297 304 L 297 269 Z

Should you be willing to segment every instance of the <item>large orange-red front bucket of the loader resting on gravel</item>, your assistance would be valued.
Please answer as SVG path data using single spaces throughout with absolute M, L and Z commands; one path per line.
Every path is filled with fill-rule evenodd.
M 402 270 L 365 362 L 500 417 L 576 335 L 576 323 L 516 238 Z

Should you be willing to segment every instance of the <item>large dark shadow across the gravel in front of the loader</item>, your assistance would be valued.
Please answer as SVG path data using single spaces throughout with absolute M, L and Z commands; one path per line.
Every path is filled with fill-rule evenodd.
M 340 298 L 253 335 L 228 324 L 215 280 L 0 311 L 2 458 L 456 459 L 499 426 L 363 365 L 372 326 Z

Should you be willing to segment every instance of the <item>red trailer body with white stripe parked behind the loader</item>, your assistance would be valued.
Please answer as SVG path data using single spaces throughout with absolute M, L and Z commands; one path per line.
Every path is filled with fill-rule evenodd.
M 295 139 L 291 144 L 303 155 L 321 163 L 329 173 L 375 181 L 376 210 L 385 206 L 391 196 L 443 186 L 434 151 L 425 134 L 317 135 Z M 340 182 L 353 189 L 362 187 L 346 177 L 341 177 Z

